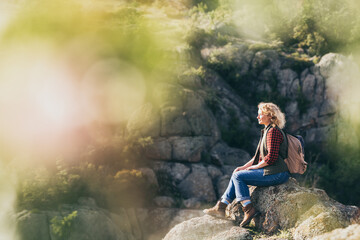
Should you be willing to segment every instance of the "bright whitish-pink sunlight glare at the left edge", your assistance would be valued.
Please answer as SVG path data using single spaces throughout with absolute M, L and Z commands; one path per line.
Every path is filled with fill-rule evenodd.
M 10 48 L 0 59 L 0 134 L 14 145 L 46 144 L 82 123 L 71 72 L 44 45 Z

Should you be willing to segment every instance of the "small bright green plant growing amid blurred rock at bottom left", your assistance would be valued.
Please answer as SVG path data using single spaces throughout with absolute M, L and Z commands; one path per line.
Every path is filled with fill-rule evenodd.
M 77 211 L 73 211 L 63 218 L 56 216 L 50 220 L 50 228 L 56 239 L 66 240 L 69 238 L 76 217 Z

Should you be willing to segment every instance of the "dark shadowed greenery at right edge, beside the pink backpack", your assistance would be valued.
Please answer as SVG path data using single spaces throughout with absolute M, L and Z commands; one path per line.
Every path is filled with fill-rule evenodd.
M 308 170 L 303 178 L 307 186 L 325 189 L 327 194 L 343 204 L 360 204 L 359 126 L 338 122 L 332 129 L 325 150 L 307 146 Z M 345 139 L 339 136 L 343 135 Z

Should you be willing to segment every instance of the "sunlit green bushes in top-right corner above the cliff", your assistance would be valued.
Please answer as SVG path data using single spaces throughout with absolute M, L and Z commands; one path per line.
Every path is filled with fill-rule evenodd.
M 306 0 L 301 7 L 292 23 L 292 38 L 287 43 L 296 43 L 311 56 L 339 51 L 353 44 L 354 29 L 360 23 L 358 9 L 348 2 L 334 0 Z

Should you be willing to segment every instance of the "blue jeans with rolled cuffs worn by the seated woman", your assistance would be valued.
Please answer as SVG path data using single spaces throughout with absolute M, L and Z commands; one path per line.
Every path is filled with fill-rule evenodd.
M 249 187 L 272 186 L 285 183 L 289 179 L 289 172 L 282 172 L 264 176 L 264 169 L 241 170 L 232 174 L 229 185 L 221 197 L 229 203 L 234 199 L 237 201 L 250 200 Z

